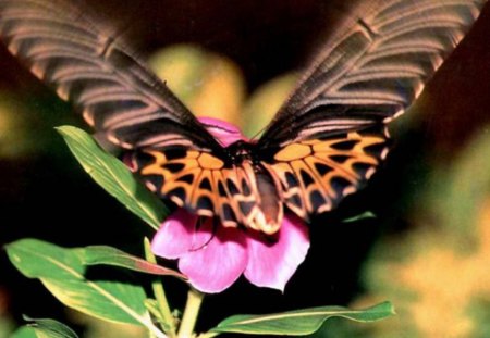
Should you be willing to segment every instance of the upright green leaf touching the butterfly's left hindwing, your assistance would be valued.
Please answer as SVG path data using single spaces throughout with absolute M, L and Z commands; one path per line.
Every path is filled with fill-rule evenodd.
M 155 229 L 168 214 L 163 203 L 140 183 L 118 159 L 103 151 L 94 138 L 82 129 L 61 126 L 57 128 L 83 168 L 107 192 Z

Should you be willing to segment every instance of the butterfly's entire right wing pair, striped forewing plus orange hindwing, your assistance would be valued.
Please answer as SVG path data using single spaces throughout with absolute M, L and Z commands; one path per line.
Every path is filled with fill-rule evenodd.
M 359 189 L 407 109 L 478 16 L 482 0 L 362 1 L 258 141 L 299 216 Z

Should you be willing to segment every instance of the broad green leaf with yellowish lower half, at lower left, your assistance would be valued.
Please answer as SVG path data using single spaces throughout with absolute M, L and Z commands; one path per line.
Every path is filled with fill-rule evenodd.
M 66 306 L 105 321 L 144 325 L 159 333 L 145 308 L 143 287 L 123 280 L 89 279 L 79 249 L 64 249 L 36 239 L 22 239 L 5 248 L 21 273 L 38 278 Z

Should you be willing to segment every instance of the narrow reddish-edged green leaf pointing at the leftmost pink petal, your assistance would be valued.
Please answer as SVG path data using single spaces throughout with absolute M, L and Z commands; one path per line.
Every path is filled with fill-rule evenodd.
M 85 265 L 113 265 L 151 275 L 173 276 L 182 280 L 187 280 L 183 274 L 174 270 L 152 264 L 140 258 L 107 246 L 81 248 L 79 254 Z

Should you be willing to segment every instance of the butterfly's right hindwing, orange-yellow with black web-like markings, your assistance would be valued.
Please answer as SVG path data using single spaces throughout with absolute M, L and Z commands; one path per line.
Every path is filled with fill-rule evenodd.
M 382 128 L 384 129 L 384 128 Z M 279 177 L 284 203 L 303 218 L 327 212 L 363 187 L 388 153 L 388 135 L 351 132 L 290 143 L 264 163 Z

